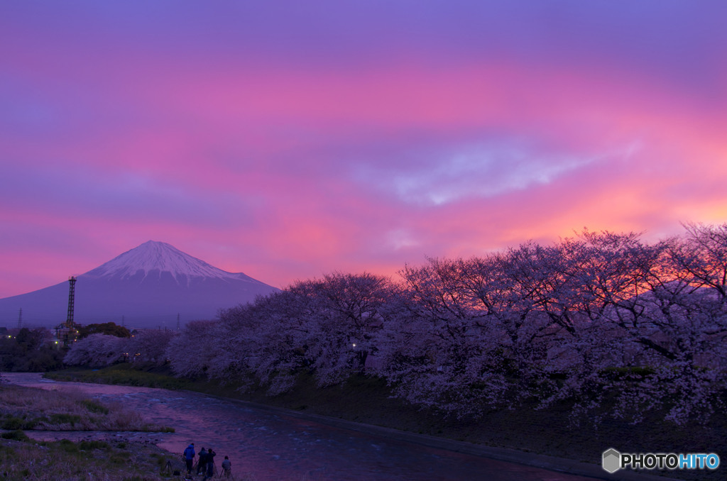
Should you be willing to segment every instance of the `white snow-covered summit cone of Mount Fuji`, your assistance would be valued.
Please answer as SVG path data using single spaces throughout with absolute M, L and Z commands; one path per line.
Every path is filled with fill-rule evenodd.
M 158 241 L 142 243 L 109 262 L 101 264 L 87 272 L 86 275 L 123 279 L 138 275 L 140 271 L 145 275 L 153 271 L 170 272 L 174 278 L 180 276 L 240 278 L 239 274 L 218 269 L 196 257 L 185 254 L 168 243 Z

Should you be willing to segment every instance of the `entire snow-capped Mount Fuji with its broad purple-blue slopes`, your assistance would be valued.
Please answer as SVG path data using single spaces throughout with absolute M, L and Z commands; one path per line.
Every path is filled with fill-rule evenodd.
M 213 319 L 220 309 L 254 301 L 277 288 L 242 272 L 218 269 L 164 242 L 148 241 L 76 278 L 73 320 L 176 328 Z M 57 326 L 68 312 L 68 282 L 0 299 L 0 325 Z

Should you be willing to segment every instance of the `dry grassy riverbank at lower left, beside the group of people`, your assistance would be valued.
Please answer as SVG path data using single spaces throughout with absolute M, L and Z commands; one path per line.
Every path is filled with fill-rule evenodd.
M 0 477 L 7 480 L 155 481 L 172 479 L 178 456 L 150 443 L 36 441 L 26 432 L 169 432 L 120 405 L 74 392 L 0 384 Z M 166 473 L 162 474 L 169 463 Z

